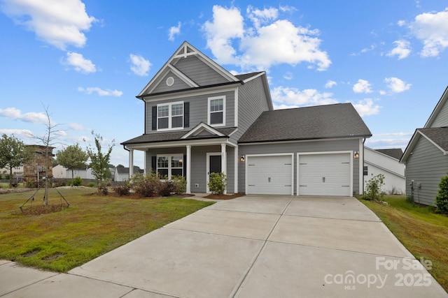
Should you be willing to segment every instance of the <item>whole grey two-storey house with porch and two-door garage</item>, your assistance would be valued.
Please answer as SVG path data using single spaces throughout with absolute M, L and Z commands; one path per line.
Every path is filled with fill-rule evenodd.
M 145 126 L 122 143 L 130 167 L 134 150 L 144 151 L 146 172 L 185 176 L 187 193 L 208 193 L 211 172 L 226 174 L 228 193 L 363 191 L 372 134 L 350 103 L 273 110 L 265 72 L 232 75 L 188 42 L 137 98 Z

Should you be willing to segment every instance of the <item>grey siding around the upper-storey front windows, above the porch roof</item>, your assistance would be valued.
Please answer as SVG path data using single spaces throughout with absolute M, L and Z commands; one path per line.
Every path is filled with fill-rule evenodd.
M 216 128 L 234 127 L 235 126 L 235 91 L 218 91 L 213 94 L 202 94 L 199 96 L 182 96 L 179 98 L 172 98 L 169 100 L 157 100 L 146 103 L 146 128 L 145 133 L 160 133 L 152 130 L 153 107 L 163 103 L 175 103 L 183 101 L 190 103 L 190 124 L 188 128 L 183 128 L 183 131 L 190 131 L 192 128 L 204 122 L 207 124 L 207 112 L 209 105 L 209 98 L 215 96 L 225 96 L 225 126 L 216 126 Z M 174 130 L 182 131 L 182 130 Z M 167 131 L 165 131 L 167 132 Z

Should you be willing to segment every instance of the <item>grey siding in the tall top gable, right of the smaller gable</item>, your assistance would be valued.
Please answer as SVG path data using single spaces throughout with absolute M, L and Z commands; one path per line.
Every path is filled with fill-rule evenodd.
M 181 58 L 175 67 L 201 87 L 229 82 L 196 56 Z

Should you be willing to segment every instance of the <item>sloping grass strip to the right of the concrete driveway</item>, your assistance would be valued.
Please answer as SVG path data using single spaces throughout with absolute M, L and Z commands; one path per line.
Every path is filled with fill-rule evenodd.
M 418 207 L 402 195 L 388 195 L 388 205 L 360 200 L 387 226 L 417 260 L 433 263 L 428 270 L 448 292 L 448 217 L 434 207 Z

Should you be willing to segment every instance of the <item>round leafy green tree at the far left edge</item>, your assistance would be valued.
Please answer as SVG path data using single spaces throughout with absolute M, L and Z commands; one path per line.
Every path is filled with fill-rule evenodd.
M 11 135 L 4 134 L 0 139 L 0 168 L 9 168 L 9 187 L 13 183 L 13 167 L 19 167 L 31 160 L 31 152 L 22 141 Z

